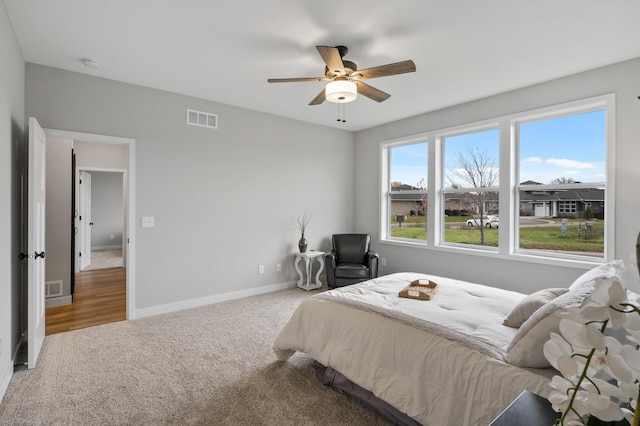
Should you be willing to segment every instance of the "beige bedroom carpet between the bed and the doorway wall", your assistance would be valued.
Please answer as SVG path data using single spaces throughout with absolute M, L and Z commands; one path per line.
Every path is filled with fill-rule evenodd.
M 300 301 L 289 289 L 48 336 L 19 371 L 1 425 L 383 425 L 321 385 L 311 359 L 271 346 Z

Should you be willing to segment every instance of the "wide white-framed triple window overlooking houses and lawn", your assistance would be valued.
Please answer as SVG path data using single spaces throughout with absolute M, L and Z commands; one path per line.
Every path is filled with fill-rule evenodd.
M 382 143 L 382 240 L 607 259 L 614 105 L 606 95 Z

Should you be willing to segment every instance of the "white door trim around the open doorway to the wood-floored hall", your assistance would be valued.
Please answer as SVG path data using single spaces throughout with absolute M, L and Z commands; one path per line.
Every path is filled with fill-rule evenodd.
M 82 142 L 93 143 L 106 143 L 115 145 L 125 145 L 127 147 L 128 163 L 127 170 L 125 170 L 125 223 L 124 223 L 124 235 L 123 246 L 125 247 L 123 253 L 123 262 L 127 268 L 127 319 L 136 318 L 136 283 L 135 283 L 135 139 L 124 138 L 119 136 L 98 135 L 93 133 L 73 132 L 69 130 L 57 130 L 57 129 L 43 129 L 47 137 L 55 137 L 61 139 L 73 139 Z M 85 168 L 86 169 L 86 168 Z M 72 271 L 73 273 L 73 271 Z

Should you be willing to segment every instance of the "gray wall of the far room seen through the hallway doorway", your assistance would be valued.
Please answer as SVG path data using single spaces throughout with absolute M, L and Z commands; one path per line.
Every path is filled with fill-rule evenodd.
M 124 229 L 123 173 L 91 173 L 91 248 L 122 246 Z M 113 236 L 113 239 L 111 238 Z

